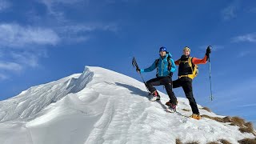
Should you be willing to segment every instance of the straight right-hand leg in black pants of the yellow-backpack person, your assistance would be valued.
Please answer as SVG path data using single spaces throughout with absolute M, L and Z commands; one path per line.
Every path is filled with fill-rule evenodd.
M 182 81 L 182 88 L 186 94 L 186 98 L 190 101 L 190 106 L 193 114 L 199 114 L 197 102 L 195 102 L 193 89 L 192 89 L 192 79 L 187 78 L 185 81 Z

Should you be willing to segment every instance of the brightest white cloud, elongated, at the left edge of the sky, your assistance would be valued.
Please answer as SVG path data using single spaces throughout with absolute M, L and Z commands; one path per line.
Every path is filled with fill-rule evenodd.
M 0 31 L 0 46 L 56 45 L 60 41 L 54 30 L 46 28 L 0 24 Z

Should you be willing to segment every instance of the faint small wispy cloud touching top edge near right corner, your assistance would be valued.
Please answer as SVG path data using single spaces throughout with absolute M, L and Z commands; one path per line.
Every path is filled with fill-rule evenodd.
M 222 10 L 222 18 L 224 20 L 230 20 L 237 17 L 236 11 L 238 10 L 238 3 L 239 1 L 236 0 L 227 6 L 224 10 Z

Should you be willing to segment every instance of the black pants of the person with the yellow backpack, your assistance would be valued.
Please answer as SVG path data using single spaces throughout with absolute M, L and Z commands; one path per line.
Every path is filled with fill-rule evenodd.
M 187 77 L 178 78 L 173 82 L 174 88 L 182 86 L 184 93 L 186 94 L 186 98 L 190 101 L 190 106 L 193 114 L 199 114 L 197 102 L 195 102 L 192 90 L 192 79 Z

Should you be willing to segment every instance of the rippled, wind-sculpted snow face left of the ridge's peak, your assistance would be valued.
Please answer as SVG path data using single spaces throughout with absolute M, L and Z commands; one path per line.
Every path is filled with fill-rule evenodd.
M 37 114 L 50 103 L 58 102 L 67 94 L 77 93 L 85 88 L 93 75 L 94 73 L 86 67 L 79 77 L 74 74 L 56 82 L 34 86 L 14 98 L 0 102 L 0 122 L 29 118 Z

